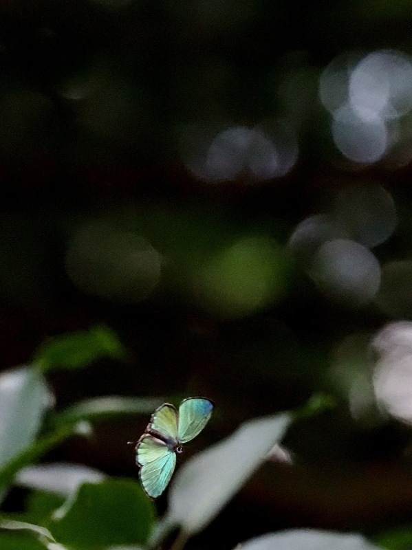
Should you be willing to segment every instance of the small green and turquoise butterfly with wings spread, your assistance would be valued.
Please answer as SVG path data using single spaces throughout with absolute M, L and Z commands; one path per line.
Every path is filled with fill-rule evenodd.
M 202 432 L 212 410 L 209 399 L 189 397 L 179 410 L 164 403 L 153 412 L 135 447 L 140 482 L 147 496 L 157 498 L 164 492 L 175 470 L 176 454 L 183 451 L 183 443 Z

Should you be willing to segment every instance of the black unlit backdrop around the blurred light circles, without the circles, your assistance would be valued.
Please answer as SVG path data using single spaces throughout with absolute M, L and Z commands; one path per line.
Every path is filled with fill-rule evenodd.
M 50 336 L 105 323 L 130 362 L 52 374 L 57 406 L 97 395 L 176 403 L 205 395 L 217 404 L 213 421 L 186 456 L 245 419 L 296 408 L 315 391 L 337 395 L 334 410 L 288 434 L 294 467 L 265 464 L 196 547 L 216 546 L 217 533 L 217 546 L 229 548 L 282 527 L 373 534 L 410 520 L 408 426 L 356 421 L 328 375 L 338 342 L 358 331 L 373 336 L 391 317 L 376 303 L 354 307 L 322 292 L 288 239 L 348 184 L 379 184 L 394 199 L 398 228 L 375 254 L 380 263 L 410 257 L 410 166 L 345 164 L 317 89 L 343 52 L 411 54 L 411 23 L 402 0 L 0 5 L 1 367 L 30 362 Z M 182 125 L 252 128 L 284 116 L 279 86 L 290 72 L 300 79 L 288 88 L 299 157 L 285 176 L 210 184 L 185 168 Z M 102 239 L 103 249 L 113 228 L 153 246 L 162 257 L 153 288 L 136 297 L 127 285 L 102 290 L 73 275 L 79 259 L 69 251 L 90 223 L 105 228 L 91 248 Z M 222 314 L 199 298 L 191 274 L 210 251 L 256 234 L 277 243 L 281 290 L 263 307 Z M 103 272 L 108 257 L 96 261 Z M 125 443 L 146 423 L 98 426 L 90 441 L 72 439 L 47 458 L 136 476 Z

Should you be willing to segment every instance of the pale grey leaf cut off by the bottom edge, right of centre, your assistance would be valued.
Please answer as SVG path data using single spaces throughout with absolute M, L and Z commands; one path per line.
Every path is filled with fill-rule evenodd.
M 378 550 L 358 533 L 290 529 L 246 540 L 242 550 Z

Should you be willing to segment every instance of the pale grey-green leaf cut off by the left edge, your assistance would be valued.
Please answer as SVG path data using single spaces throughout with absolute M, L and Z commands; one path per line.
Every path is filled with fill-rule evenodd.
M 23 366 L 1 373 L 0 487 L 5 482 L 2 467 L 32 443 L 50 401 L 50 391 L 38 369 Z

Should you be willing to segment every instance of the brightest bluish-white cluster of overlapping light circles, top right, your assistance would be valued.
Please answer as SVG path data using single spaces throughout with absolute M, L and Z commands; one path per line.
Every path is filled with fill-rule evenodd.
M 321 74 L 319 96 L 332 115 L 339 151 L 350 161 L 374 164 L 407 132 L 397 122 L 412 109 L 412 58 L 395 50 L 340 54 Z

